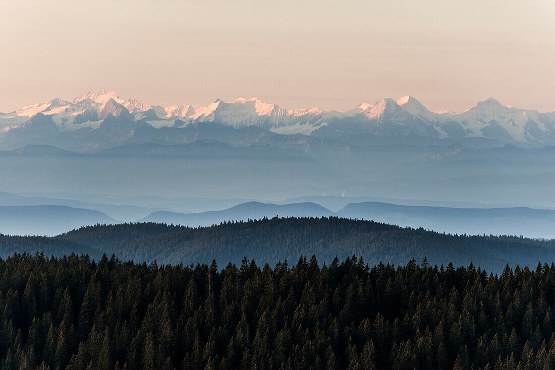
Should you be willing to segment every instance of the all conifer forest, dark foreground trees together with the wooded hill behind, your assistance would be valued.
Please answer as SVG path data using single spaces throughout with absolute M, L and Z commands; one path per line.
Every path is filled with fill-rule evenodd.
M 551 369 L 553 251 L 337 217 L 0 235 L 0 366 Z

